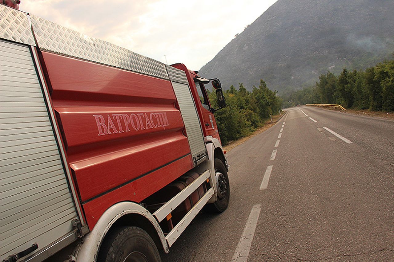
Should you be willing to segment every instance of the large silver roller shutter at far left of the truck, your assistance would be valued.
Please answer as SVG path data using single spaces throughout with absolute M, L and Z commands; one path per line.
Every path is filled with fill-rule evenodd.
M 46 247 L 78 218 L 28 46 L 0 40 L 0 259 Z M 33 254 L 33 253 L 32 253 Z

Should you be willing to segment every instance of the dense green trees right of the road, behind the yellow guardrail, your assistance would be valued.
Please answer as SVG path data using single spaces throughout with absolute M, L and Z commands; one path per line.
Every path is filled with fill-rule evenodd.
M 340 104 L 346 109 L 394 111 L 394 60 L 384 61 L 362 71 L 342 70 L 319 76 L 313 87 L 281 96 L 283 107 L 308 103 Z

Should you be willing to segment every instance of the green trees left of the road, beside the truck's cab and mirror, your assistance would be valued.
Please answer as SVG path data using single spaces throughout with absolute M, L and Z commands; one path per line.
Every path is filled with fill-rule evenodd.
M 209 90 L 208 90 L 209 92 Z M 217 128 L 223 145 L 251 135 L 264 126 L 271 115 L 279 114 L 282 100 L 276 91 L 268 89 L 266 82 L 260 80 L 252 92 L 243 84 L 236 89 L 231 86 L 224 92 L 227 106 L 215 112 Z M 209 92 L 212 107 L 217 108 L 216 93 Z

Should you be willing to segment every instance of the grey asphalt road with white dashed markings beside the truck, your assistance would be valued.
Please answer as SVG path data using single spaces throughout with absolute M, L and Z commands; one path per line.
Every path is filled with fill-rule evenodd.
M 394 261 L 394 121 L 287 111 L 228 153 L 229 208 L 164 261 Z

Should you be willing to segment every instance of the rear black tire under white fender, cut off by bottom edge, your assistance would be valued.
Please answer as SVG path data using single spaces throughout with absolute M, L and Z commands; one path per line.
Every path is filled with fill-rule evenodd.
M 119 227 L 106 236 L 98 262 L 160 262 L 159 251 L 147 232 L 139 227 Z

